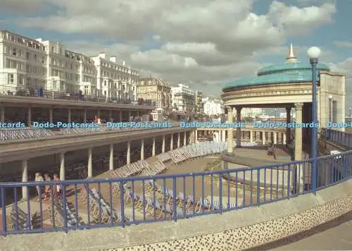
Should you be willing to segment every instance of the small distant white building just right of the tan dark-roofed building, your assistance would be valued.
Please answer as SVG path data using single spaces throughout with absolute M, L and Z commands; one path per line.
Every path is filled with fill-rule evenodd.
M 171 87 L 172 108 L 177 112 L 192 112 L 195 109 L 195 92 L 189 86 L 178 84 Z

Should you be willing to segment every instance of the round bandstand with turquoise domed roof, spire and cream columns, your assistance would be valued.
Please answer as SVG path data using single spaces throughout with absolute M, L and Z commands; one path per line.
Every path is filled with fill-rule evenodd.
M 346 75 L 334 73 L 322 63 L 318 63 L 318 121 L 320 128 L 326 128 L 327 122 L 344 123 L 345 118 L 345 82 Z M 291 109 L 296 110 L 296 124 L 312 121 L 312 66 L 298 61 L 292 44 L 286 62 L 268 66 L 258 71 L 255 77 L 230 82 L 222 89 L 222 100 L 227 107 L 228 121 L 232 123 L 236 112 L 237 122 L 241 121 L 241 109 L 285 108 L 287 123 L 292 123 Z M 337 128 L 344 130 L 344 128 Z M 294 133 L 291 133 L 294 130 Z M 229 137 L 233 137 L 229 130 Z M 291 135 L 294 134 L 294 138 Z M 302 145 L 310 142 L 310 128 L 287 128 L 287 144 L 294 139 L 294 159 L 302 159 Z M 236 147 L 241 147 L 241 128 L 236 131 Z M 233 146 L 229 145 L 229 153 Z

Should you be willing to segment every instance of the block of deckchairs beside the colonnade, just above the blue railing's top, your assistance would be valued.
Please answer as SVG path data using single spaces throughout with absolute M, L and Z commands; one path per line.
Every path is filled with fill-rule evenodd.
M 115 169 L 110 174 L 112 177 L 128 177 L 135 175 L 153 176 L 156 174 L 163 173 L 168 168 L 161 161 L 154 161 L 149 164 L 147 161 L 140 160 L 132 164 L 126 164 L 118 169 Z

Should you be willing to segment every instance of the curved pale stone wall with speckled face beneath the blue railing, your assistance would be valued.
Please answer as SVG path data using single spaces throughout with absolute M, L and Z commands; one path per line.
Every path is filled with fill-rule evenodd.
M 177 222 L 69 233 L 9 235 L 0 250 L 244 250 L 337 218 L 352 209 L 352 180 L 290 200 Z

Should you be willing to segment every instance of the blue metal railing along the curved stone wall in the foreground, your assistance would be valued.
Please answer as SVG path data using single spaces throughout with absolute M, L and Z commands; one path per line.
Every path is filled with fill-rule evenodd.
M 318 158 L 315 189 L 351 178 L 351 157 L 352 151 Z M 177 221 L 289 199 L 315 190 L 310 185 L 312 161 L 174 175 L 0 183 L 0 234 Z M 36 193 L 44 195 L 34 197 Z M 21 200 L 23 194 L 26 199 Z

